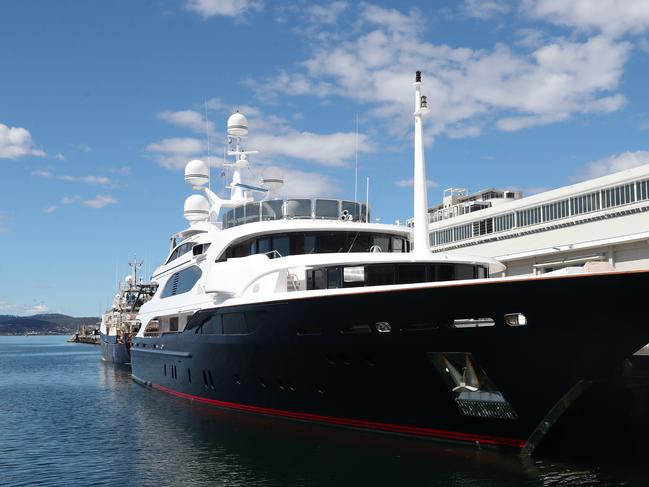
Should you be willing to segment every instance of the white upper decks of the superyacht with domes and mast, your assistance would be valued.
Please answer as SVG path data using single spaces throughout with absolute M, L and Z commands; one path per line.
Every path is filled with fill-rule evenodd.
M 172 236 L 169 256 L 153 272 L 159 289 L 140 309 L 138 337 L 181 332 L 196 311 L 215 306 L 299 299 L 305 293 L 353 294 L 363 286 L 416 286 L 501 272 L 502 264 L 494 259 L 463 255 L 451 260 L 430 252 L 422 127 L 426 111 L 417 72 L 414 235 L 409 227 L 370 223 L 369 208 L 356 201 L 273 198 L 283 183 L 276 174 L 267 174 L 259 185 L 244 183 L 248 156 L 257 151 L 242 147 L 248 135 L 246 117 L 239 112 L 230 116 L 228 154 L 234 162 L 225 165 L 232 171 L 230 197 L 222 199 L 209 188 L 207 164 L 187 164 L 185 182 L 200 193 L 185 200 L 189 227 Z M 389 282 L 380 275 L 381 264 L 393 267 Z M 444 274 L 406 276 L 411 264 L 418 271 L 430 265 Z M 397 266 L 404 266 L 399 277 Z

